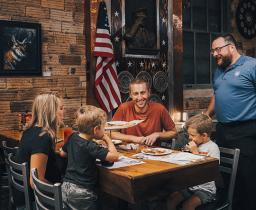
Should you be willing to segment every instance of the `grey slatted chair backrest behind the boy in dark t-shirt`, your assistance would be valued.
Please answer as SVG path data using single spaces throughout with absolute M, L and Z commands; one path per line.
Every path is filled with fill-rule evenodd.
M 37 209 L 63 209 L 61 184 L 55 183 L 52 185 L 42 182 L 38 179 L 38 173 L 36 168 L 33 168 L 31 170 L 31 174 L 34 183 L 34 195 Z

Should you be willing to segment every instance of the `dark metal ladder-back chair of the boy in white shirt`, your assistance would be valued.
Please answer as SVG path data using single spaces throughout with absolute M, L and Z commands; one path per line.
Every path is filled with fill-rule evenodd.
M 216 201 L 202 205 L 197 210 L 232 210 L 239 155 L 240 149 L 220 147 L 219 170 L 223 177 L 223 186 L 217 189 Z

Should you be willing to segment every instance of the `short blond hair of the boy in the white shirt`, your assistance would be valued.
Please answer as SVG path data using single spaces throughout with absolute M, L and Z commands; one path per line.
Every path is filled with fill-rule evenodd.
M 195 129 L 199 134 L 207 133 L 210 136 L 213 128 L 212 119 L 205 114 L 197 114 L 186 122 L 186 129 L 188 128 Z

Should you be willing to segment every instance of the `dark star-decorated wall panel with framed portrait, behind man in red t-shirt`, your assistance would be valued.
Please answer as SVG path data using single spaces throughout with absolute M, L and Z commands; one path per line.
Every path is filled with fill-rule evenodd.
M 130 79 L 140 78 L 149 82 L 153 94 L 152 100 L 161 101 L 168 107 L 169 73 L 167 71 L 170 33 L 167 29 L 170 24 L 168 14 L 171 11 L 171 3 L 168 0 L 111 0 L 110 4 L 111 33 L 122 100 L 126 101 L 127 98 L 129 100 Z M 145 45 L 143 40 L 129 43 L 127 36 L 129 33 L 135 34 L 141 25 L 150 31 L 150 39 L 152 39 Z M 133 30 L 129 30 L 130 28 Z M 144 33 L 144 30 L 142 31 Z M 147 39 L 146 32 L 145 37 L 139 35 L 138 40 L 140 38 Z M 159 71 L 161 73 L 157 73 Z M 155 78 L 155 81 L 152 78 Z

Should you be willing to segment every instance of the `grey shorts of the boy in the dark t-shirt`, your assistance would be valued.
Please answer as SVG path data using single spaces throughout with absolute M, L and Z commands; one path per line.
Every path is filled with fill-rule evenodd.
M 72 210 L 97 210 L 97 195 L 82 186 L 63 182 L 61 186 L 63 207 Z

